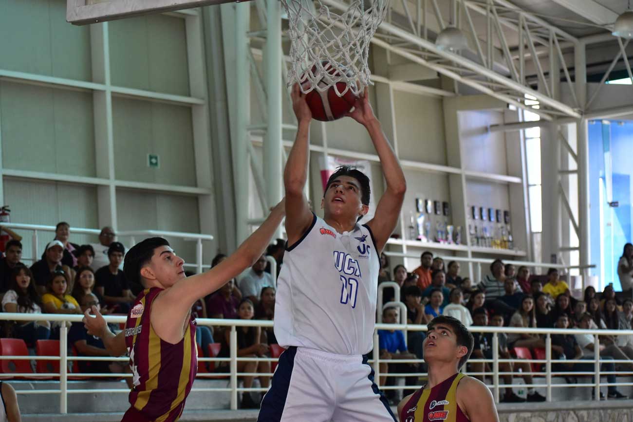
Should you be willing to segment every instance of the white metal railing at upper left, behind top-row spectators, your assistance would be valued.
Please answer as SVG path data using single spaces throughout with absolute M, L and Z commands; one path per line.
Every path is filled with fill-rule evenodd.
M 48 226 L 42 224 L 22 224 L 22 223 L 3 223 L 3 227 L 8 227 L 14 230 L 26 230 L 32 232 L 32 245 L 31 256 L 22 257 L 23 261 L 35 262 L 41 256 L 39 251 L 39 232 L 55 232 L 55 226 Z M 101 230 L 96 228 L 82 228 L 72 227 L 73 234 L 87 234 L 87 235 L 99 235 Z M 187 264 L 187 268 L 195 268 L 198 273 L 203 272 L 203 269 L 210 268 L 209 264 L 203 264 L 203 241 L 208 242 L 213 240 L 212 235 L 205 235 L 200 233 L 186 233 L 186 232 L 169 232 L 166 230 L 131 230 L 128 232 L 118 232 L 118 237 L 126 237 L 130 239 L 128 247 L 132 247 L 136 244 L 137 237 L 150 237 L 150 236 L 162 236 L 162 237 L 175 237 L 177 239 L 188 240 L 196 242 L 196 263 Z

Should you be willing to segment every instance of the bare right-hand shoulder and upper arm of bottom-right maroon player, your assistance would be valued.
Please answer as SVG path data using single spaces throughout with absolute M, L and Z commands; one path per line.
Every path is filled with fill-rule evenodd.
M 457 388 L 457 402 L 470 422 L 499 422 L 497 407 L 486 384 L 465 376 Z

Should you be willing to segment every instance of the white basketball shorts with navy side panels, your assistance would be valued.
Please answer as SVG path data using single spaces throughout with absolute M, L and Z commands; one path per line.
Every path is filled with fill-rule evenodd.
M 289 347 L 279 357 L 258 422 L 394 422 L 362 356 Z

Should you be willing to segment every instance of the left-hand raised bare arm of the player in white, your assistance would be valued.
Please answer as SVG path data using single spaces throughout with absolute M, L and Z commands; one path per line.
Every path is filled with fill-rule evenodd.
M 308 230 L 313 216 L 303 188 L 308 180 L 310 164 L 310 121 L 312 113 L 306 103 L 306 96 L 298 84 L 292 87 L 292 109 L 297 116 L 298 128 L 294 145 L 288 154 L 284 170 L 285 187 L 285 232 L 288 244 L 296 243 Z

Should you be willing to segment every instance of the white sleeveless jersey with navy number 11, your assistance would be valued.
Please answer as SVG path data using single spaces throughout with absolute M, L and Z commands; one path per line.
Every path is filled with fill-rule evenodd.
M 285 250 L 275 298 L 279 344 L 348 356 L 372 350 L 379 259 L 367 225 L 341 234 L 315 215 Z

